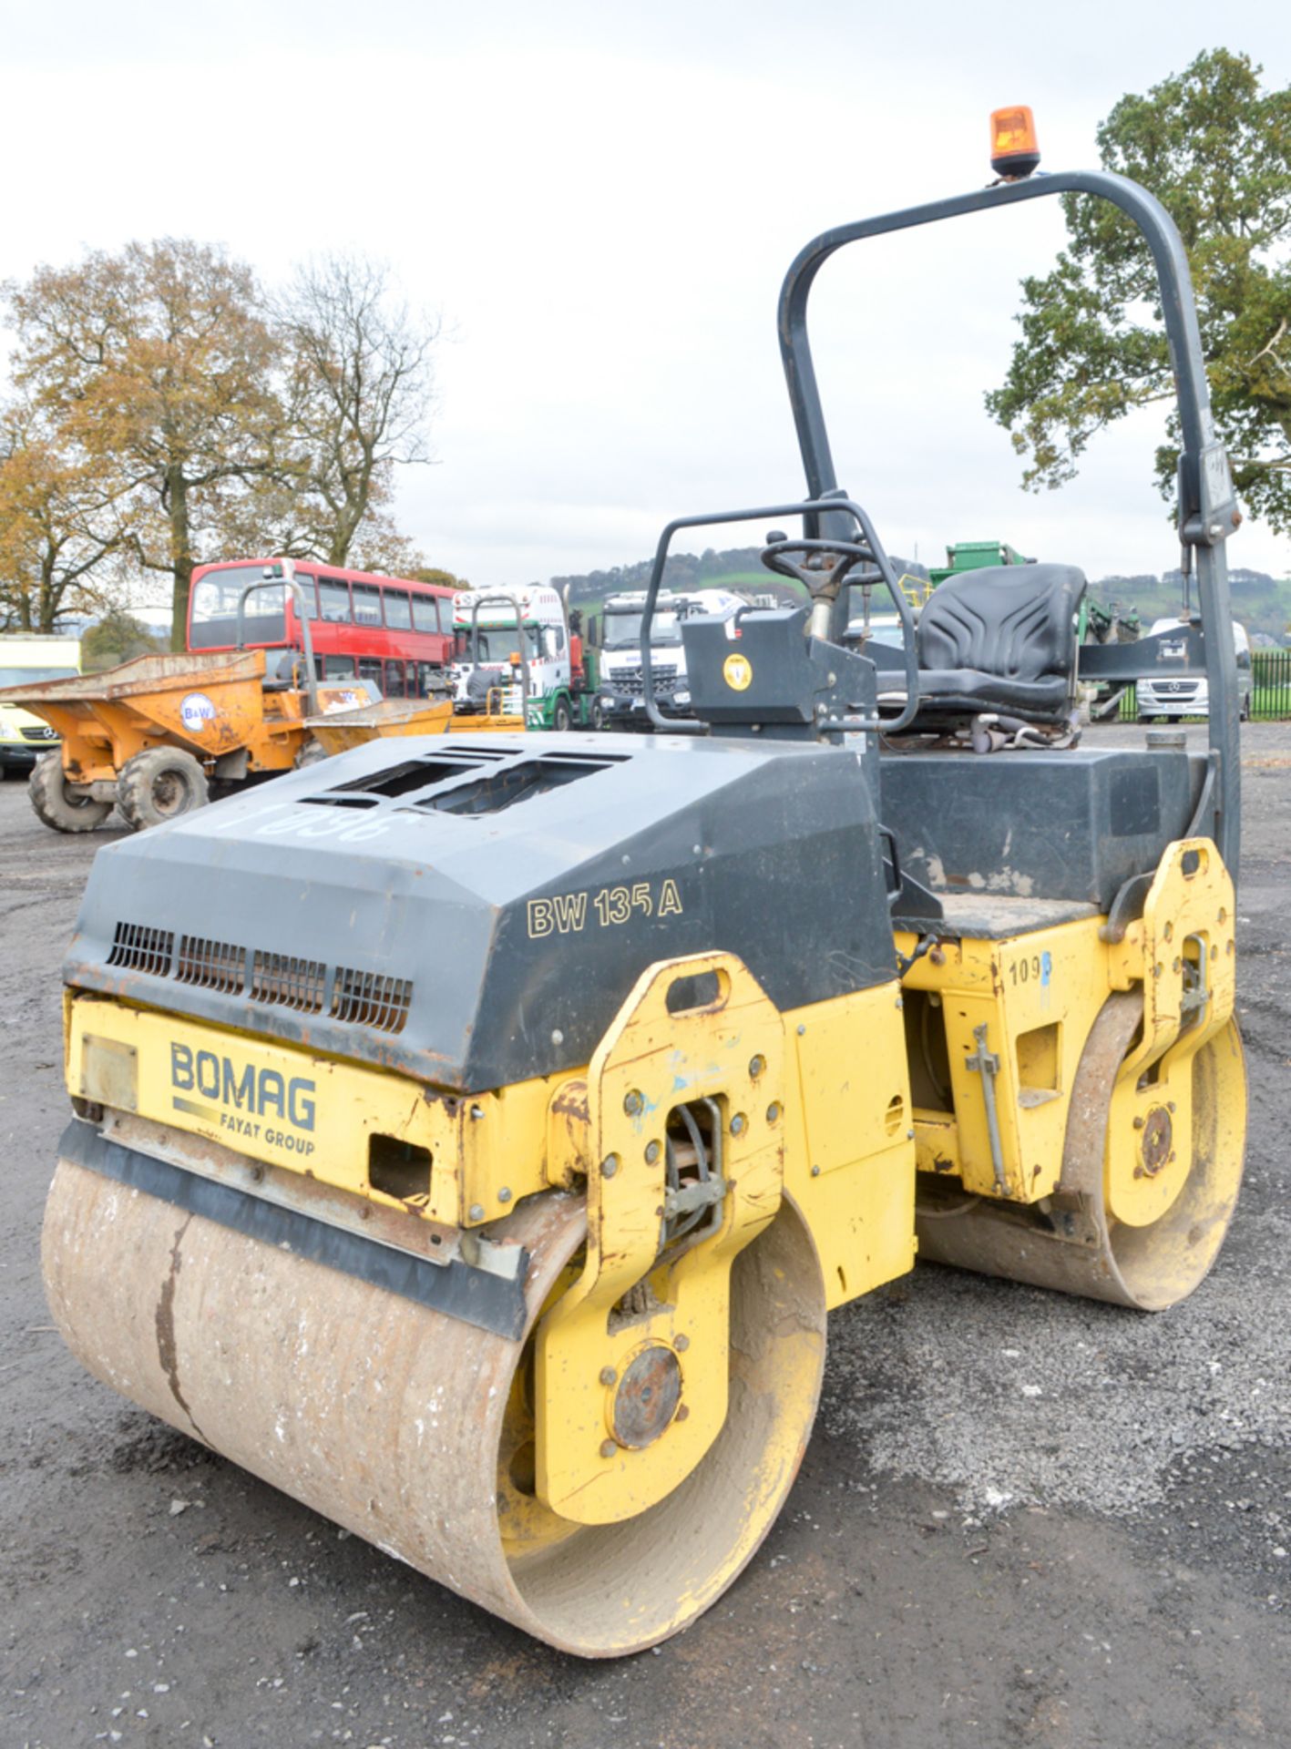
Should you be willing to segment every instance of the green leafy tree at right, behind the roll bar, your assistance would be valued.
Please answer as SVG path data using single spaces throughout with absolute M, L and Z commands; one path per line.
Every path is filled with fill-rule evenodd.
M 1179 226 L 1197 290 L 1219 436 L 1249 511 L 1291 530 L 1291 87 L 1261 91 L 1246 54 L 1198 54 L 1099 128 L 1104 170 L 1149 189 Z M 1060 486 L 1095 432 L 1174 385 L 1148 245 L 1111 203 L 1064 194 L 1071 241 L 1022 282 L 1022 341 L 987 408 L 1025 460 L 1023 484 Z M 1174 495 L 1177 420 L 1156 477 Z

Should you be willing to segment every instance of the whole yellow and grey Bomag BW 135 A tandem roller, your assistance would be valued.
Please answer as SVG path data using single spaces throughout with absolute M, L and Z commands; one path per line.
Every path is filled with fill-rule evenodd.
M 1200 663 L 1209 754 L 1072 747 L 1081 574 L 953 577 L 915 630 L 834 483 L 817 269 L 1064 191 L 1156 261 L 1204 612 L 1162 672 Z M 845 226 L 791 268 L 780 341 L 810 497 L 665 532 L 647 698 L 679 528 L 801 518 L 766 561 L 810 602 L 687 624 L 693 719 L 283 777 L 101 850 L 66 964 L 44 1244 L 73 1352 L 584 1656 L 677 1632 L 754 1555 L 826 1313 L 917 1235 L 1163 1308 L 1242 1168 L 1237 511 L 1170 219 L 1071 173 Z M 857 584 L 901 647 L 848 644 Z

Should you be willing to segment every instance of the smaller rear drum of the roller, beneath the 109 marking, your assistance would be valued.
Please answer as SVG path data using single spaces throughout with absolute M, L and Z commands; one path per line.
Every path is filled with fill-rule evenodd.
M 1242 1184 L 1242 1041 L 1228 1020 L 1177 1086 L 1155 1090 L 1120 1074 L 1141 1023 L 1130 992 L 1109 997 L 1090 1028 L 1058 1193 L 1030 1209 L 920 1177 L 920 1258 L 1141 1312 L 1188 1298 L 1219 1256 Z

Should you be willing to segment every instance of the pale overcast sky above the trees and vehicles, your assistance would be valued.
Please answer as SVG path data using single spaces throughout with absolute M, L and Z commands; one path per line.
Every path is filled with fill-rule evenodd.
M 784 269 L 827 226 L 988 180 L 992 108 L 1030 103 L 1046 168 L 1085 168 L 1111 105 L 1200 49 L 1291 80 L 1284 0 L 3 10 L 0 276 L 161 234 L 269 282 L 331 248 L 387 261 L 453 336 L 439 462 L 402 472 L 399 518 L 486 584 L 630 563 L 672 516 L 799 497 Z M 1041 497 L 983 411 L 1016 282 L 1062 234 L 1036 201 L 857 245 L 820 276 L 838 472 L 890 551 L 1006 539 L 1092 577 L 1176 561 L 1158 409 Z M 1247 525 L 1230 563 L 1284 575 L 1291 542 Z

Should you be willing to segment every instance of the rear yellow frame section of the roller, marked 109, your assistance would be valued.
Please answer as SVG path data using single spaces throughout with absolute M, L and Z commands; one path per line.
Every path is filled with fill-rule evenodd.
M 1008 939 L 946 941 L 910 965 L 911 1007 L 920 1023 L 938 1016 L 952 1086 L 946 1109 L 915 1109 L 922 1172 L 1018 1203 L 1057 1191 L 1086 1039 L 1107 997 L 1135 986 L 1144 1025 L 1118 1077 L 1116 1128 L 1148 1130 L 1148 1114 L 1165 1102 L 1172 1130 L 1190 1133 L 1191 1060 L 1233 1013 L 1233 887 L 1214 845 L 1172 845 L 1142 916 L 1121 941 L 1106 936 L 1093 916 Z M 897 936 L 899 953 L 915 948 L 913 936 Z M 995 1062 L 994 1142 L 983 1051 Z M 1141 1160 L 1118 1160 L 1113 1212 L 1132 1224 L 1156 1219 L 1186 1175 L 1184 1151 L 1162 1163 L 1177 1172 L 1158 1165 L 1135 1175 Z

